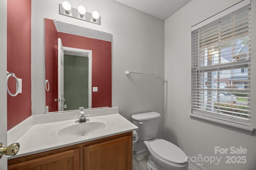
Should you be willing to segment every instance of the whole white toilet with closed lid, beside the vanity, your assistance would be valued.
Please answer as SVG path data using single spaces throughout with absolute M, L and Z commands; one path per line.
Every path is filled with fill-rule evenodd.
M 156 138 L 160 117 L 157 112 L 132 115 L 132 123 L 139 127 L 138 139 L 148 151 L 147 170 L 188 170 L 186 154 L 169 141 Z

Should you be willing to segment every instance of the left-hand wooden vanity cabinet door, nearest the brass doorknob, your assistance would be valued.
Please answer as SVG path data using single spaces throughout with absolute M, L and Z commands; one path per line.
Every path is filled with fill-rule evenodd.
M 8 170 L 79 170 L 79 149 L 13 164 Z

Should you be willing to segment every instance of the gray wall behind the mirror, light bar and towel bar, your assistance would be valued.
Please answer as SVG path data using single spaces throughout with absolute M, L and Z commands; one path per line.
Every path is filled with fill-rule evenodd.
M 72 0 L 71 6 L 97 10 L 101 25 L 63 16 L 63 0 L 32 0 L 32 114 L 45 113 L 44 18 L 111 33 L 112 106 L 131 121 L 131 115 L 146 111 L 162 114 L 159 136 L 164 135 L 164 21 L 114 0 Z M 100 5 L 99 5 L 100 4 Z M 124 72 L 152 72 L 160 76 Z

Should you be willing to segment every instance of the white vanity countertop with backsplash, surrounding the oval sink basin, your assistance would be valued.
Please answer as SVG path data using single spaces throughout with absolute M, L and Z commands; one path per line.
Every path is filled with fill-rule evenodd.
M 136 125 L 119 114 L 118 107 L 84 110 L 84 112 L 88 119 L 107 119 L 108 125 L 104 129 L 86 136 L 58 137 L 49 135 L 49 132 L 58 125 L 78 120 L 80 111 L 32 115 L 7 132 L 8 145 L 16 142 L 20 143 L 18 154 L 8 156 L 8 159 L 67 147 L 138 129 Z

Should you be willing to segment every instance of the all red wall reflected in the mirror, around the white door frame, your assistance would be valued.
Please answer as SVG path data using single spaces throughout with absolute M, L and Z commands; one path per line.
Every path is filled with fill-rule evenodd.
M 46 106 L 49 106 L 49 111 L 57 111 L 58 103 L 54 102 L 54 99 L 58 98 L 58 70 L 55 69 L 58 68 L 56 28 L 49 19 L 45 20 L 45 28 L 45 54 L 48 55 L 46 58 L 53 59 L 46 59 L 46 79 L 52 81 L 49 81 L 50 91 L 46 92 Z M 57 36 L 62 40 L 64 47 L 92 50 L 92 87 L 98 87 L 98 92 L 92 92 L 92 107 L 112 107 L 111 42 L 61 32 L 58 32 Z M 54 104 L 57 106 L 50 107 Z

